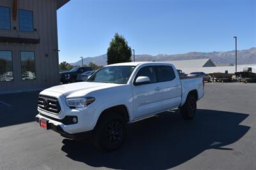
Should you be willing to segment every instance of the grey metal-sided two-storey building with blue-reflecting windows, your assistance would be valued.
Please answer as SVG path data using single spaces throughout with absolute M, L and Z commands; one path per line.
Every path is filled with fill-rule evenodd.
M 59 83 L 57 12 L 69 0 L 0 0 L 0 93 Z

